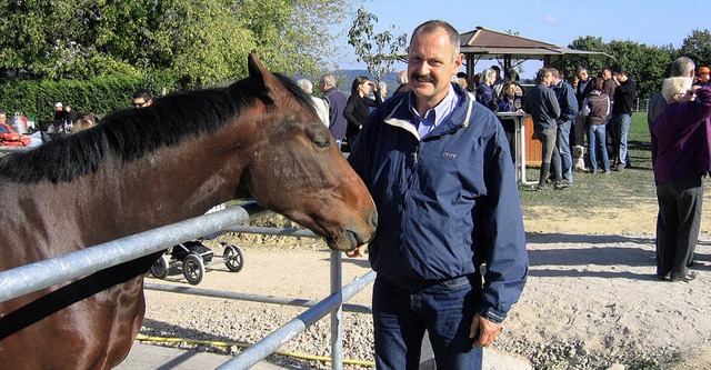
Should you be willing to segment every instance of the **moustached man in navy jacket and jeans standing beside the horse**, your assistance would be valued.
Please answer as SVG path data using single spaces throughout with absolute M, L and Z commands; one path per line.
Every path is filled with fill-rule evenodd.
M 349 157 L 380 213 L 368 247 L 380 370 L 418 369 L 425 330 L 439 369 L 481 369 L 525 282 L 508 142 L 497 116 L 450 82 L 462 59 L 452 26 L 420 24 L 410 92 L 370 116 Z

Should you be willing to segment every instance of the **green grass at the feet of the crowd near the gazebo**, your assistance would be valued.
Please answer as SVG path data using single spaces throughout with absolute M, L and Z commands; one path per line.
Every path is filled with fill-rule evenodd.
M 554 207 L 571 213 L 592 206 L 620 208 L 639 202 L 657 203 L 650 134 L 647 128 L 647 113 L 632 116 L 628 137 L 631 169 L 623 172 L 590 174 L 573 173 L 574 186 L 561 191 L 531 191 L 521 187 L 519 194 L 525 218 L 539 217 L 531 208 L 537 206 Z M 529 167 L 529 181 L 538 179 L 539 168 Z

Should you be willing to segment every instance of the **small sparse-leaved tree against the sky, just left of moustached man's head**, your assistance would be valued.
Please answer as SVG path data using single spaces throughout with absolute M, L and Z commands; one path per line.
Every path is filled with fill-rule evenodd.
M 380 82 L 385 74 L 394 71 L 392 64 L 398 60 L 400 48 L 405 47 L 408 34 L 395 37 L 392 33 L 395 30 L 394 26 L 390 26 L 389 30 L 383 32 L 374 33 L 374 22 L 378 22 L 378 17 L 360 8 L 348 32 L 348 43 L 356 49 L 358 61 L 365 62 L 368 73 Z

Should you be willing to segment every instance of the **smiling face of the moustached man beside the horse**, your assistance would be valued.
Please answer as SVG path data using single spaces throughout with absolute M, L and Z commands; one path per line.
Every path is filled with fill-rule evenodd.
M 418 106 L 437 106 L 449 91 L 450 81 L 462 64 L 462 54 L 454 56 L 447 32 L 437 29 L 418 32 L 410 43 L 408 74 Z

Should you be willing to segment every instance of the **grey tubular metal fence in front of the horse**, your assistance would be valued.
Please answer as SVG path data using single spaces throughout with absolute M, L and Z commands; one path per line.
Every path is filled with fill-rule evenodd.
M 238 227 L 241 223 L 270 213 L 257 202 L 228 208 L 166 227 L 157 228 L 130 237 L 117 239 L 94 247 L 56 258 L 21 266 L 0 272 L 0 302 L 4 302 L 68 280 L 91 274 L 109 267 L 128 262 L 153 252 L 164 250 L 171 246 L 190 239 L 211 234 L 218 231 L 233 231 L 247 233 L 266 233 L 276 236 L 319 238 L 308 230 L 272 229 Z M 334 370 L 343 368 L 342 350 L 342 310 L 343 302 L 356 296 L 375 279 L 375 272 L 370 271 L 356 279 L 346 287 L 341 287 L 341 253 L 331 251 L 331 291 L 332 293 L 320 302 L 291 300 L 290 302 L 272 301 L 254 294 L 214 292 L 199 289 L 166 288 L 166 286 L 147 284 L 149 289 L 176 291 L 189 290 L 190 293 L 261 301 L 268 303 L 312 306 L 310 309 L 267 336 L 236 358 L 223 363 L 219 369 L 249 369 L 267 356 L 274 352 L 283 343 L 304 331 L 308 327 L 331 312 L 331 366 Z M 227 296 L 231 297 L 227 297 Z M 349 311 L 370 313 L 370 309 L 362 306 L 347 306 Z

